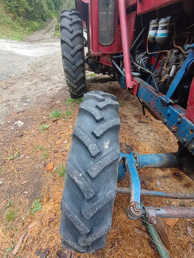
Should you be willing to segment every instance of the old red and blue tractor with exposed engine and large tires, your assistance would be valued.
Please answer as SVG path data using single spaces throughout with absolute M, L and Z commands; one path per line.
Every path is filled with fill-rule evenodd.
M 194 194 L 141 189 L 138 171 L 178 168 L 194 179 L 194 1 L 75 0 L 75 6 L 60 15 L 66 86 L 72 98 L 83 96 L 64 178 L 62 245 L 80 253 L 104 247 L 114 199 L 123 193 L 130 197 L 126 216 L 141 217 L 160 255 L 168 257 L 153 229 L 157 217 L 194 218 L 194 208 L 147 207 L 140 196 L 194 199 Z M 177 152 L 141 155 L 120 143 L 119 104 L 109 93 L 86 92 L 86 63 L 89 71 L 109 75 L 137 96 L 143 114 L 147 109 L 177 138 Z M 126 174 L 129 187 L 117 188 Z

